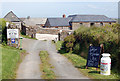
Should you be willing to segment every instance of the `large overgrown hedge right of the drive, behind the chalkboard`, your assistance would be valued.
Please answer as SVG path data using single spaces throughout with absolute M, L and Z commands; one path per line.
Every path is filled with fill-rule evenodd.
M 120 24 L 106 25 L 102 27 L 80 27 L 74 32 L 74 36 L 67 36 L 63 42 L 60 53 L 68 53 L 65 43 L 71 39 L 75 39 L 72 45 L 72 53 L 82 56 L 87 59 L 89 45 L 94 46 L 104 45 L 104 52 L 111 54 L 112 71 L 119 74 L 120 71 L 120 45 L 118 34 Z M 66 40 L 67 39 L 67 40 Z

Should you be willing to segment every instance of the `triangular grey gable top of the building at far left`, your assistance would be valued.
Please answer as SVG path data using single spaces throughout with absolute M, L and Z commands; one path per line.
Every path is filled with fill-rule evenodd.
M 5 17 L 5 20 L 11 21 L 11 22 L 21 22 L 21 20 L 12 12 L 10 11 Z

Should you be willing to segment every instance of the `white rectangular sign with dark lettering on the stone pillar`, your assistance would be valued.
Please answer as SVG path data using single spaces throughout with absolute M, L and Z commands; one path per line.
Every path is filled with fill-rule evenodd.
M 7 29 L 7 38 L 19 38 L 18 29 Z

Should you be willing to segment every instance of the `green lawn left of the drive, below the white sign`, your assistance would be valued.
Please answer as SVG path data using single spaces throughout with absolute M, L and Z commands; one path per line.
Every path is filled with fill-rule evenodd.
M 2 79 L 15 79 L 16 70 L 22 58 L 25 56 L 25 50 L 19 50 L 14 47 L 2 46 Z

